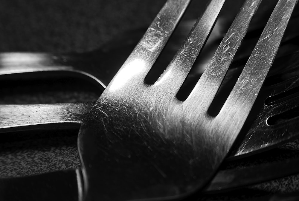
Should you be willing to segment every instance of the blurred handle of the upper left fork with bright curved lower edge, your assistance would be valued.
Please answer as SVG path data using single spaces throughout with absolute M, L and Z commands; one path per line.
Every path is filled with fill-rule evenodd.
M 95 51 L 98 55 L 104 55 L 100 50 Z M 6 76 L 7 78 L 24 78 L 24 73 L 37 73 L 37 72 L 47 72 L 42 74 L 45 76 L 52 72 L 52 75 L 65 75 L 62 72 L 68 72 L 73 74 L 73 76 L 78 77 L 89 77 L 94 80 L 96 84 L 100 84 L 103 89 L 111 80 L 112 73 L 117 71 L 118 68 L 115 67 L 113 70 L 105 71 L 103 67 L 99 67 L 96 71 L 93 67 L 93 60 L 90 58 L 89 53 L 68 53 L 64 55 L 46 53 L 46 52 L 0 52 L 0 75 Z M 109 58 L 109 56 L 106 56 Z M 99 58 L 98 63 L 105 64 L 105 61 Z M 88 63 L 88 61 L 90 63 Z M 83 63 L 83 64 L 82 64 Z M 117 65 L 114 65 L 117 66 Z M 107 73 L 108 72 L 108 73 Z M 34 75 L 34 74 L 33 74 Z M 28 74 L 26 75 L 28 76 Z M 31 77 L 30 77 L 31 78 Z

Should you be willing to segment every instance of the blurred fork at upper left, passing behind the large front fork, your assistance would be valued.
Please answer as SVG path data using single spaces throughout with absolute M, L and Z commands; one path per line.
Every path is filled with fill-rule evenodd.
M 297 22 L 299 20 L 298 12 L 293 14 L 289 22 L 289 27 L 292 29 L 287 29 L 285 36 L 282 39 L 282 45 L 288 46 L 289 41 L 298 38 L 298 28 Z M 179 48 L 180 42 L 184 39 L 185 35 L 188 33 L 191 24 L 194 24 L 194 20 L 184 21 L 179 24 L 177 31 L 174 33 L 170 45 L 166 46 L 164 50 L 163 57 L 166 57 L 166 61 L 170 60 L 171 56 L 174 55 L 176 48 Z M 202 52 L 207 52 L 204 56 L 205 61 L 196 61 L 194 68 L 198 69 L 196 74 L 192 72 L 194 77 L 202 74 L 206 65 L 210 61 L 211 56 L 209 52 L 216 50 L 221 37 L 225 33 L 225 27 L 228 24 L 228 19 L 225 17 L 220 18 L 216 21 L 215 27 L 220 27 L 220 33 L 211 34 L 208 41 L 205 44 L 205 50 Z M 262 23 L 256 23 L 248 30 L 249 36 L 256 36 L 257 33 L 261 32 L 263 27 Z M 294 28 L 295 27 L 295 28 Z M 101 89 L 105 89 L 109 84 L 115 73 L 118 71 L 119 67 L 123 64 L 129 53 L 137 44 L 139 38 L 141 38 L 144 33 L 144 29 L 138 29 L 123 34 L 123 37 L 116 38 L 113 41 L 109 41 L 97 50 L 84 53 L 66 53 L 66 54 L 51 54 L 46 52 L 1 52 L 0 53 L 0 75 L 3 77 L 7 76 L 9 79 L 15 77 L 25 78 L 32 72 L 53 72 L 54 76 L 64 75 L 62 72 L 68 72 L 68 75 L 77 75 L 83 78 L 89 78 L 90 81 L 96 83 Z M 242 49 L 242 54 L 235 57 L 235 61 L 242 61 L 249 57 L 251 53 L 251 46 L 257 41 L 257 37 L 249 37 L 244 39 L 244 47 Z M 287 47 L 285 49 L 291 49 Z M 115 59 L 115 55 L 118 55 L 118 59 Z M 162 65 L 167 65 L 166 62 L 162 62 Z M 47 73 L 48 74 L 48 73 Z M 43 74 L 43 75 L 47 75 Z M 198 75 L 197 75 L 198 74 Z

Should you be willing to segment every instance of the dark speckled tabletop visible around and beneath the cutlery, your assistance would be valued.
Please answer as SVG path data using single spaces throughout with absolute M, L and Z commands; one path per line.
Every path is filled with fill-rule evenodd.
M 85 52 L 103 46 L 126 31 L 147 27 L 164 1 L 152 0 L 4 0 L 0 6 L 0 51 Z M 226 8 L 237 4 L 229 1 Z M 186 18 L 195 18 L 205 1 L 194 1 Z M 229 9 L 228 9 L 228 12 Z M 191 13 L 191 14 L 190 14 Z M 117 55 L 115 55 L 117 59 Z M 37 78 L 34 81 L 0 78 L 0 103 L 65 103 L 96 100 L 101 91 L 77 78 Z M 77 130 L 1 134 L 0 176 L 16 177 L 79 168 Z M 298 150 L 274 149 L 262 156 L 225 163 L 222 168 L 248 166 L 289 157 Z M 268 192 L 298 191 L 298 176 L 244 188 L 242 197 Z M 232 198 L 224 194 L 218 198 Z

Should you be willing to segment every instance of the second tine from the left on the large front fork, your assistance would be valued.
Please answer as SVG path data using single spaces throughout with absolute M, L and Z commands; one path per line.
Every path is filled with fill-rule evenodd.
M 204 14 L 198 18 L 184 44 L 155 85 L 167 85 L 169 93 L 177 93 L 187 77 L 196 57 L 207 40 L 225 0 L 212 0 Z M 188 56 L 186 56 L 188 55 Z M 165 94 L 165 92 L 163 92 Z M 169 94 L 168 94 L 169 95 Z

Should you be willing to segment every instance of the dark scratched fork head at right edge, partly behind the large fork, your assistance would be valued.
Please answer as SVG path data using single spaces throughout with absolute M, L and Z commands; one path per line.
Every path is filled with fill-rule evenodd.
M 230 156 L 254 154 L 298 136 L 298 55 L 295 52 L 275 60 L 256 101 L 260 113 Z M 283 72 L 277 73 L 282 67 Z M 260 142 L 266 143 L 261 146 Z

